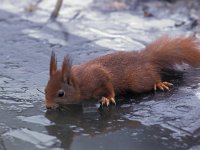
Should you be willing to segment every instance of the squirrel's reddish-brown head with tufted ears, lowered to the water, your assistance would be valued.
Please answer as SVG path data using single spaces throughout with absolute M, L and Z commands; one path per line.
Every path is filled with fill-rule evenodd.
M 64 104 L 78 103 L 80 91 L 72 72 L 69 56 L 65 56 L 62 68 L 57 70 L 55 53 L 50 60 L 50 79 L 45 88 L 45 104 L 48 109 L 55 109 Z

